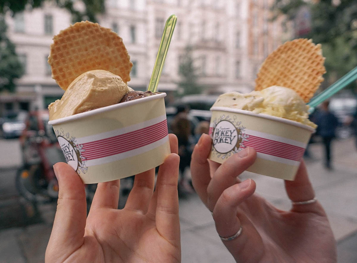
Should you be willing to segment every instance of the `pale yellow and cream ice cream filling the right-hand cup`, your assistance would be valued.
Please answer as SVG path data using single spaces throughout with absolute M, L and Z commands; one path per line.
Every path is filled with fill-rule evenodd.
M 218 97 L 213 106 L 269 114 L 316 128 L 316 124 L 308 119 L 309 107 L 302 98 L 294 90 L 281 86 L 271 86 L 246 94 L 225 93 Z

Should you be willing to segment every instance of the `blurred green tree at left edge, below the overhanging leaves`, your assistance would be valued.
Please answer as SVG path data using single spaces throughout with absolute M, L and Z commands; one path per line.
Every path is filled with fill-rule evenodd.
M 15 45 L 6 36 L 6 24 L 3 15 L 0 15 L 0 92 L 3 90 L 15 91 L 14 79 L 24 74 L 15 52 Z

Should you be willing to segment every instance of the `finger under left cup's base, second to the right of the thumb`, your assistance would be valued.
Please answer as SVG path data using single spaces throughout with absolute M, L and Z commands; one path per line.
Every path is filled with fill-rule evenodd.
M 155 186 L 155 169 L 135 175 L 134 185 L 126 200 L 125 209 L 139 210 L 146 214 Z

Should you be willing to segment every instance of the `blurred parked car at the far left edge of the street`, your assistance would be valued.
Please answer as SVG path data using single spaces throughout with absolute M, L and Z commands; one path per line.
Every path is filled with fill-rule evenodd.
M 25 129 L 25 120 L 27 113 L 20 111 L 19 113 L 7 113 L 0 120 L 0 132 L 3 138 L 18 138 Z

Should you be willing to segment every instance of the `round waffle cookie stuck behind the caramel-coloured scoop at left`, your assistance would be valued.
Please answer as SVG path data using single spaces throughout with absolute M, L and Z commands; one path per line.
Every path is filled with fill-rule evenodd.
M 75 23 L 54 36 L 48 63 L 52 78 L 64 90 L 77 76 L 94 69 L 108 70 L 127 83 L 132 67 L 122 39 L 89 21 Z

